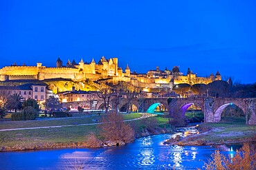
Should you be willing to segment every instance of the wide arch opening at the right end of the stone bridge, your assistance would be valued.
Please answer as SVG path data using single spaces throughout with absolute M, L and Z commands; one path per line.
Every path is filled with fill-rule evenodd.
M 228 113 L 224 113 L 224 112 L 228 112 Z M 230 112 L 231 112 L 231 115 L 230 115 Z M 223 115 L 223 114 L 226 114 L 226 115 Z M 241 107 L 235 105 L 234 103 L 226 103 L 216 109 L 216 111 L 214 112 L 214 119 L 216 120 L 216 122 L 220 122 L 221 118 L 225 116 L 237 116 L 237 117 L 244 116 L 245 117 L 246 113 L 244 113 L 244 110 L 241 109 Z M 246 123 L 246 120 L 244 120 L 244 123 Z

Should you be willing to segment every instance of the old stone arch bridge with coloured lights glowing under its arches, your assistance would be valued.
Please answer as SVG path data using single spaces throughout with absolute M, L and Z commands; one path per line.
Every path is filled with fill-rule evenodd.
M 228 107 L 228 105 L 236 105 L 246 116 L 246 124 L 256 125 L 256 98 L 172 98 L 167 101 L 168 98 L 134 98 L 130 101 L 129 107 L 133 106 L 136 108 L 134 111 L 138 112 L 149 112 L 148 109 L 150 106 L 158 103 L 163 105 L 165 111 L 172 110 L 175 108 L 181 109 L 181 113 L 185 114 L 186 109 L 190 105 L 196 105 L 200 107 L 204 114 L 205 122 L 207 123 L 218 123 L 221 120 L 221 113 L 223 109 Z M 96 101 L 96 105 L 95 105 Z M 73 102 L 73 103 L 63 103 L 64 107 L 66 106 L 75 106 L 84 105 L 87 103 L 90 109 L 104 109 L 103 100 L 94 100 L 93 101 L 82 101 L 82 102 Z M 157 106 L 157 104 L 156 104 Z M 156 106 L 154 109 L 156 109 Z M 128 107 L 128 99 L 122 98 L 120 104 L 118 105 L 118 110 L 124 111 Z M 175 107 L 175 108 L 174 108 Z M 115 102 L 112 101 L 111 108 L 115 109 Z

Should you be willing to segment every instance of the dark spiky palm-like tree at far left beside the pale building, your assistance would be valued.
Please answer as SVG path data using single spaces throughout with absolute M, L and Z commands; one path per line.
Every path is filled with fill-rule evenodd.
M 17 110 L 22 109 L 23 101 L 24 97 L 22 97 L 20 94 L 11 94 L 7 98 L 6 108 L 10 110 L 14 109 L 15 112 L 17 112 Z

